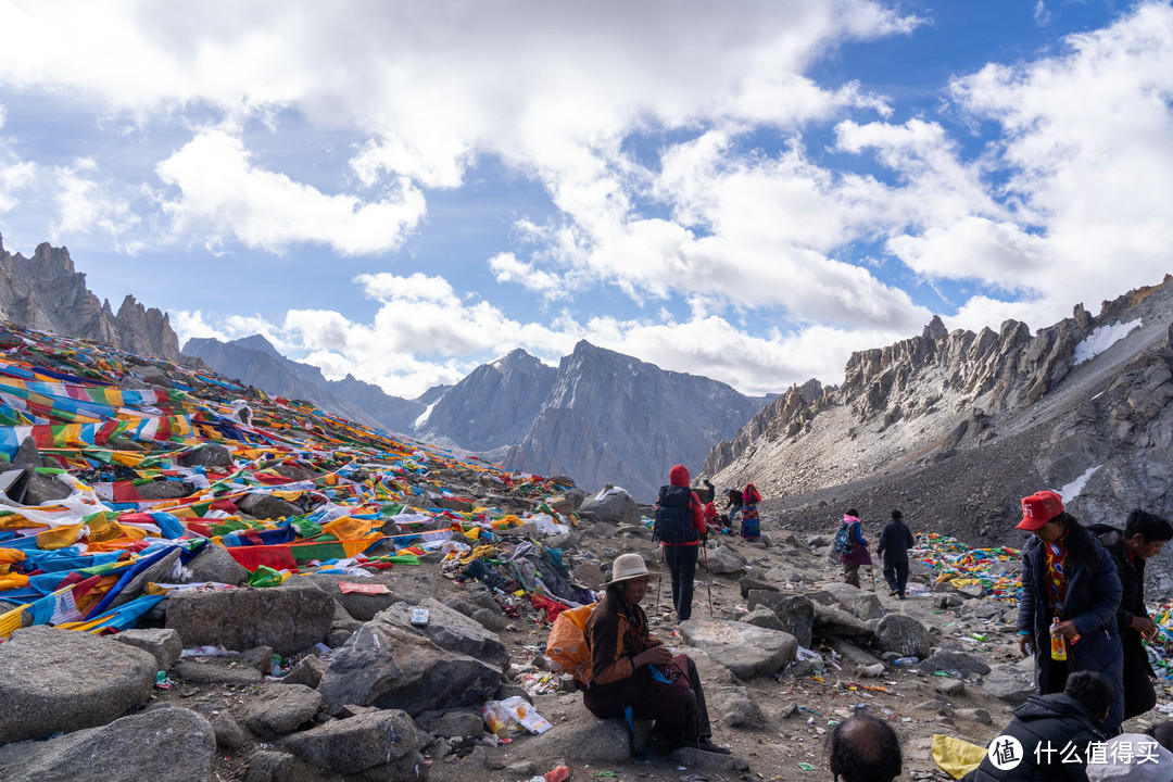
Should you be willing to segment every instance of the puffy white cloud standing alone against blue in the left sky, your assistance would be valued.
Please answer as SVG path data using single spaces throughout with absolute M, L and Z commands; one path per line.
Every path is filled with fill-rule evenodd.
M 423 216 L 423 196 L 405 182 L 381 200 L 326 195 L 284 174 L 251 164 L 240 138 L 202 130 L 156 166 L 179 190 L 163 209 L 179 234 L 210 243 L 235 238 L 280 252 L 294 242 L 327 244 L 340 254 L 398 249 Z

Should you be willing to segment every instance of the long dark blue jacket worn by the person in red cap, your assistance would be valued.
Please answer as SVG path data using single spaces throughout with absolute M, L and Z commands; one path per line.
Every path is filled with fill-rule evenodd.
M 1018 630 L 1029 631 L 1042 648 L 1035 650 L 1035 671 L 1039 688 L 1045 686 L 1052 665 L 1050 654 L 1051 601 L 1046 591 L 1045 544 L 1031 536 L 1023 546 L 1023 597 L 1018 604 Z M 1124 592 L 1116 563 L 1096 537 L 1072 524 L 1067 537 L 1067 598 L 1063 619 L 1076 623 L 1079 641 L 1069 644 L 1073 671 L 1099 671 L 1116 684 L 1117 699 L 1104 720 L 1114 735 L 1124 720 L 1124 650 L 1116 612 Z M 1062 664 L 1060 664 L 1062 665 Z

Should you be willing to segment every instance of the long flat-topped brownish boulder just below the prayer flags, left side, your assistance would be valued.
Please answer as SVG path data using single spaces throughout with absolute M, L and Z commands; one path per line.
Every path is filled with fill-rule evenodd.
M 167 599 L 167 626 L 183 645 L 216 646 L 243 652 L 271 646 L 291 655 L 325 640 L 334 618 L 334 601 L 308 584 L 270 589 L 172 592 Z

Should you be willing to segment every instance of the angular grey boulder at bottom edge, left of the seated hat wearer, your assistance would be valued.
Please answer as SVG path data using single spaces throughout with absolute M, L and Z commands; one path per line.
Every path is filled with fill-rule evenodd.
M 335 774 L 366 774 L 380 780 L 427 778 L 427 766 L 415 752 L 415 725 L 399 709 L 334 720 L 286 736 L 278 747 L 314 768 Z

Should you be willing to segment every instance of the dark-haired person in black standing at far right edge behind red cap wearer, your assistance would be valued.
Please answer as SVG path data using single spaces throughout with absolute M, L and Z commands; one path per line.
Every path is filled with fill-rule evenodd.
M 1123 533 L 1106 524 L 1089 529 L 1107 549 L 1124 587 L 1116 620 L 1124 645 L 1124 719 L 1127 720 L 1157 706 L 1157 693 L 1148 680 L 1157 674 L 1141 642 L 1157 634 L 1157 624 L 1145 607 L 1145 560 L 1159 555 L 1173 538 L 1173 525 L 1138 508 L 1128 514 Z

